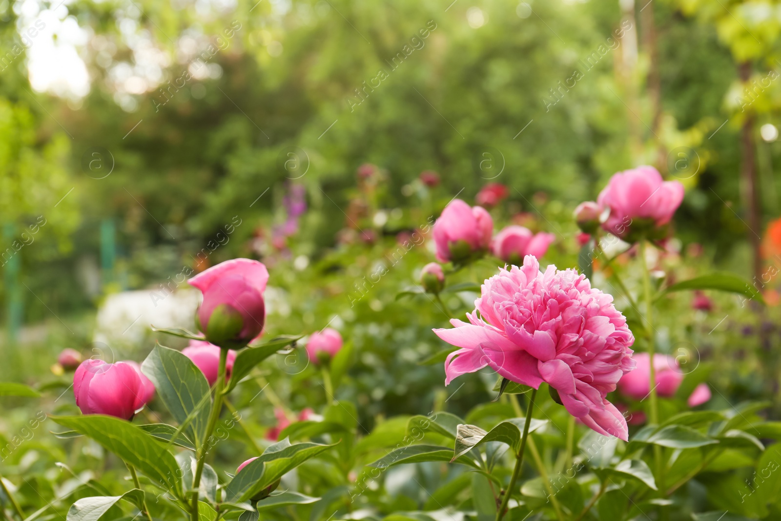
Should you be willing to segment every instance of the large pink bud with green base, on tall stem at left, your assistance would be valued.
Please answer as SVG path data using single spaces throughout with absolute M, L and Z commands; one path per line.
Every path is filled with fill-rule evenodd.
M 221 348 L 243 348 L 263 330 L 263 291 L 269 272 L 262 262 L 233 259 L 188 280 L 203 294 L 198 323 L 206 340 Z

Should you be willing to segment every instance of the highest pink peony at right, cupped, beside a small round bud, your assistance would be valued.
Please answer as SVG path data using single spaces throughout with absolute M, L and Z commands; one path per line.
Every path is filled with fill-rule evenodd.
M 637 241 L 643 234 L 660 236 L 683 202 L 683 184 L 664 181 L 653 166 L 638 166 L 615 173 L 597 202 L 610 209 L 604 230 Z

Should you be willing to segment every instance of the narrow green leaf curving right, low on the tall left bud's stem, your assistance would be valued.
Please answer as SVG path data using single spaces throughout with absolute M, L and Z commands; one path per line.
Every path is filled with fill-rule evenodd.
M 338 442 L 337 442 L 338 443 Z M 254 497 L 284 474 L 314 458 L 334 444 L 300 443 L 281 450 L 266 452 L 241 469 L 225 488 L 225 501 L 238 503 Z

